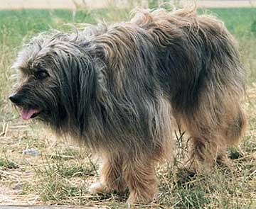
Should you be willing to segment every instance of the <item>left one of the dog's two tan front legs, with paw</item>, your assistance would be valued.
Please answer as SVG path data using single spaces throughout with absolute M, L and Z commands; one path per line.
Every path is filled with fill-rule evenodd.
M 114 154 L 104 154 L 100 165 L 100 181 L 92 183 L 92 193 L 123 193 L 126 186 L 122 179 L 122 157 Z

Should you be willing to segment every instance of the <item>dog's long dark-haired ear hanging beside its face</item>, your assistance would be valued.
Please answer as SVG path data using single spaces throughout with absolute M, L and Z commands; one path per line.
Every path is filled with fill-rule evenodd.
M 84 47 L 67 41 L 55 43 L 48 56 L 60 88 L 60 103 L 70 123 L 75 123 L 82 133 L 96 100 L 97 77 L 92 56 Z

